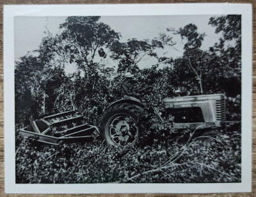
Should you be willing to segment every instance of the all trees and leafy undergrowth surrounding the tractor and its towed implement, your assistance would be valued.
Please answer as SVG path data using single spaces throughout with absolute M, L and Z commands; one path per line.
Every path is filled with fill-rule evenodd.
M 40 47 L 15 65 L 15 126 L 29 125 L 46 114 L 76 109 L 97 125 L 108 104 L 121 97 L 124 73 L 136 75 L 134 88 L 152 86 L 150 97 L 225 93 L 227 120 L 241 120 L 241 15 L 212 17 L 209 25 L 221 38 L 202 50 L 205 33 L 195 24 L 166 29 L 153 40 L 120 42 L 120 33 L 100 17 L 67 17 L 60 33 L 47 32 Z M 166 27 L 167 28 L 167 27 Z M 172 35 L 184 43 L 180 57 L 162 56 L 174 47 Z M 138 65 L 154 58 L 149 68 Z M 116 67 L 108 65 L 115 62 Z M 66 74 L 65 68 L 76 67 Z M 163 134 L 164 133 L 164 134 Z M 167 133 L 167 134 L 166 134 Z M 140 146 L 114 148 L 93 143 L 38 145 L 16 135 L 17 183 L 93 182 L 240 182 L 241 129 L 211 140 L 148 130 Z M 164 136 L 163 136 L 164 135 Z

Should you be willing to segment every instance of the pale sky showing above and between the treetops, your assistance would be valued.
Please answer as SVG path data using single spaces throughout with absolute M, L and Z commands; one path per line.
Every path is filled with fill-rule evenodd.
M 179 35 L 171 35 L 166 28 L 179 29 L 187 24 L 195 24 L 199 33 L 205 33 L 201 49 L 207 50 L 218 42 L 220 34 L 215 34 L 215 28 L 208 25 L 212 15 L 164 15 L 164 16 L 120 16 L 100 17 L 100 22 L 108 24 L 116 32 L 121 33 L 120 42 L 127 42 L 128 39 L 138 40 L 149 39 L 159 36 L 159 33 L 166 33 L 173 36 L 177 45 L 159 50 L 159 54 L 177 58 L 182 56 L 182 40 Z M 15 17 L 15 61 L 27 54 L 28 51 L 38 49 L 44 31 L 47 29 L 56 35 L 60 33 L 59 26 L 65 22 L 66 17 Z M 150 67 L 156 63 L 156 59 L 145 58 L 140 62 L 139 67 Z M 68 67 L 66 72 L 74 72 L 74 67 Z

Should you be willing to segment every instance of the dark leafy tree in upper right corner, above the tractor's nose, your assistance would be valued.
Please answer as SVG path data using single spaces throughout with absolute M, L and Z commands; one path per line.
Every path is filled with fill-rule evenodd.
M 209 50 L 215 56 L 212 65 L 219 68 L 216 76 L 223 90 L 234 97 L 241 93 L 241 15 L 211 17 L 209 24 L 223 36 Z

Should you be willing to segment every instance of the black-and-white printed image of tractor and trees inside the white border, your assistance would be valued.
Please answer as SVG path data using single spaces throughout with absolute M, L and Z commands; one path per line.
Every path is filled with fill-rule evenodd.
M 13 20 L 15 184 L 241 184 L 241 13 Z

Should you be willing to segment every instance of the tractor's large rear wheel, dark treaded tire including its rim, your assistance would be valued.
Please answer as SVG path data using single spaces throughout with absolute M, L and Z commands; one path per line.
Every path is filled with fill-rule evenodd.
M 100 134 L 108 145 L 134 146 L 140 138 L 138 118 L 143 108 L 133 104 L 116 104 L 102 115 Z

